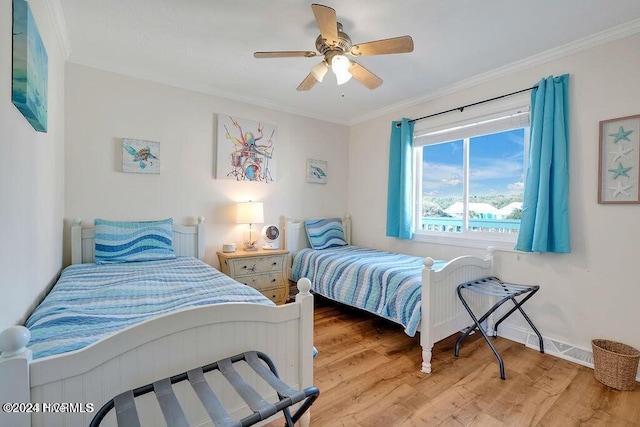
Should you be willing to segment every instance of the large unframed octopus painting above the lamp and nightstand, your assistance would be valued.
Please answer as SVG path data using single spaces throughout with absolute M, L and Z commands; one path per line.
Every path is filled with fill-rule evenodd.
M 274 125 L 219 115 L 216 178 L 275 181 L 275 137 Z

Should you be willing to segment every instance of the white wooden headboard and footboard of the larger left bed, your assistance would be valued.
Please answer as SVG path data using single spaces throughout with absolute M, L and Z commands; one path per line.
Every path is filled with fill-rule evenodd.
M 202 217 L 196 225 L 174 225 L 176 254 L 204 259 L 203 231 Z M 77 220 L 71 236 L 72 262 L 93 262 L 93 229 L 82 228 Z M 0 426 L 87 426 L 105 402 L 123 391 L 248 350 L 269 355 L 280 378 L 292 387 L 309 387 L 313 385 L 313 297 L 309 288 L 310 282 L 301 279 L 296 302 L 278 307 L 226 303 L 170 313 L 84 349 L 37 360 L 32 360 L 31 350 L 25 347 L 28 330 L 23 326 L 8 328 L 0 334 L 0 403 L 27 405 L 21 413 L 0 411 Z M 229 414 L 240 419 L 251 413 L 219 380 L 210 382 L 214 381 L 216 393 L 216 385 L 221 387 L 219 397 L 227 409 L 232 408 Z M 256 389 L 264 392 L 267 400 L 276 400 L 266 384 L 256 384 Z M 191 425 L 213 425 L 191 390 L 175 392 Z M 143 425 L 164 425 L 156 402 L 138 400 Z M 53 404 L 47 406 L 51 411 L 68 403 L 90 403 L 93 411 L 83 406 L 84 412 L 43 413 L 44 404 Z M 33 404 L 39 405 L 39 412 L 26 413 L 26 409 L 35 408 Z M 115 425 L 114 413 L 111 411 L 102 425 Z M 309 416 L 300 422 L 308 425 Z

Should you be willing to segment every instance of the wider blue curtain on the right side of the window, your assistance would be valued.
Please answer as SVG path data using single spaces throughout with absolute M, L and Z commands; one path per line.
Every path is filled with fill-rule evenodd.
M 515 249 L 571 252 L 569 239 L 569 75 L 540 80 L 531 92 L 531 138 Z

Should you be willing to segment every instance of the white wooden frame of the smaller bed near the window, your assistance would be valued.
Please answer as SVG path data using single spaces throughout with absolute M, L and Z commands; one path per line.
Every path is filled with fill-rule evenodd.
M 342 219 L 347 243 L 351 244 L 351 217 Z M 291 253 L 309 247 L 304 221 L 285 219 L 285 247 Z M 421 371 L 431 373 L 433 345 L 472 324 L 469 313 L 458 299 L 456 288 L 459 284 L 491 276 L 494 249 L 489 248 L 485 258 L 461 256 L 449 261 L 442 269 L 432 269 L 434 260 L 424 259 L 422 271 L 422 318 L 420 321 L 420 345 L 422 346 Z M 291 277 L 289 263 L 289 277 Z M 491 307 L 492 300 L 481 295 L 469 295 L 467 300 L 475 313 L 484 313 Z M 491 320 L 489 323 L 491 323 Z M 492 325 L 488 325 L 492 333 Z

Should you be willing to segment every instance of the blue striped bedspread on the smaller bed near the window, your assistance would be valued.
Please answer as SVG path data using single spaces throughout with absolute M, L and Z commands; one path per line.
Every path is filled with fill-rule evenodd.
M 412 337 L 420 324 L 423 268 L 424 258 L 359 246 L 306 248 L 294 254 L 291 279 L 306 277 L 314 292 L 399 323 Z

